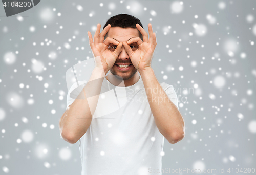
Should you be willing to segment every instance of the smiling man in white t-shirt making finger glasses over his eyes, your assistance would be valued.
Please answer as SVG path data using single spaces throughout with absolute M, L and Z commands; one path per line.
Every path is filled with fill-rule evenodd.
M 154 174 L 150 170 L 162 166 L 164 138 L 174 144 L 185 136 L 174 88 L 159 84 L 151 68 L 157 45 L 151 24 L 148 33 L 127 14 L 112 16 L 101 33 L 98 24 L 94 39 L 88 32 L 95 68 L 76 99 L 73 84 L 59 122 L 64 140 L 79 140 L 82 175 Z M 101 96 L 104 80 L 112 88 Z M 126 103 L 114 108 L 125 92 Z

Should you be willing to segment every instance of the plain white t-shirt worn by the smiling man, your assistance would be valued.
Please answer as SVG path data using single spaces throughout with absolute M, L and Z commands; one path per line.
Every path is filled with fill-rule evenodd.
M 160 85 L 178 107 L 173 86 Z M 77 83 L 68 92 L 67 107 L 81 90 L 74 92 L 75 88 Z M 101 92 L 91 125 L 79 139 L 82 175 L 159 175 L 148 172 L 149 168 L 162 168 L 164 137 L 156 126 L 141 77 L 129 87 L 114 86 L 104 78 Z

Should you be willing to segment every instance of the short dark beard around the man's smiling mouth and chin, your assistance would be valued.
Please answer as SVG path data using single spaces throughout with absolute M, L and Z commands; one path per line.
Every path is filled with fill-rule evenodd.
M 120 71 L 116 68 L 116 65 L 114 64 L 113 67 L 110 69 L 110 72 L 118 79 L 129 80 L 134 76 L 134 74 L 138 71 L 133 65 L 131 65 L 132 68 L 128 71 Z

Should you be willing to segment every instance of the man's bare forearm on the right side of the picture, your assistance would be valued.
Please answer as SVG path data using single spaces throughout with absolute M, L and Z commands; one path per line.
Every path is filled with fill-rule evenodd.
M 185 135 L 182 115 L 159 84 L 152 68 L 140 72 L 147 99 L 160 133 L 170 142 L 176 143 Z

